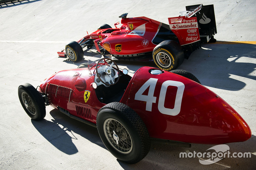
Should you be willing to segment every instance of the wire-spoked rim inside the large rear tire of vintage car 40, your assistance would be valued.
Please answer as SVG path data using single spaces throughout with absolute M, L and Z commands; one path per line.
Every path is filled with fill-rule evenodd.
M 104 125 L 104 133 L 109 144 L 120 153 L 130 153 L 132 151 L 132 139 L 124 125 L 111 118 L 107 119 Z

